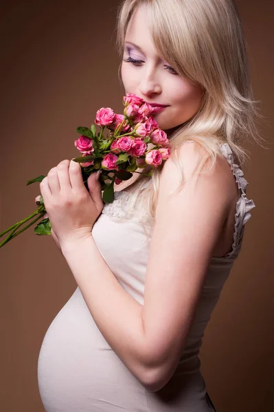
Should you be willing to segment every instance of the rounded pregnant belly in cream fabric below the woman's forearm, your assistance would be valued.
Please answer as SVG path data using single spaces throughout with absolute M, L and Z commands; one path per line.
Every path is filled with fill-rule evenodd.
M 80 289 L 49 326 L 38 357 L 47 412 L 147 412 L 146 390 L 105 341 Z

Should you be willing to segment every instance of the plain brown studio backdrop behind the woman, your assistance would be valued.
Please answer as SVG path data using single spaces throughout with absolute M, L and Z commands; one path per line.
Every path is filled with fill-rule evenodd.
M 117 0 L 7 1 L 1 10 L 1 228 L 36 207 L 38 183 L 77 155 L 77 126 L 95 111 L 122 108 L 115 51 Z M 95 5 L 94 5 L 95 4 Z M 255 99 L 268 149 L 247 144 L 248 197 L 256 208 L 240 257 L 212 314 L 202 371 L 217 411 L 273 411 L 273 1 L 238 0 L 249 43 Z M 33 229 L 1 255 L 0 408 L 40 412 L 38 354 L 77 284 L 49 237 Z

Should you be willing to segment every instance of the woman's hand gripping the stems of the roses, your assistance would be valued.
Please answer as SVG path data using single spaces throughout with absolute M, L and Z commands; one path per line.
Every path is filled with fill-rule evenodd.
M 96 174 L 89 176 L 87 191 L 80 164 L 63 160 L 40 183 L 45 209 L 61 247 L 91 236 L 104 205 Z

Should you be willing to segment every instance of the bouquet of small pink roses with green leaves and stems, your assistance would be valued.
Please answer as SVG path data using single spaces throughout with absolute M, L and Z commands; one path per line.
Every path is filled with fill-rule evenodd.
M 80 163 L 84 185 L 91 173 L 101 171 L 100 184 L 102 200 L 111 203 L 114 200 L 114 183 L 119 185 L 147 165 L 157 168 L 170 157 L 170 143 L 166 133 L 158 126 L 152 115 L 158 109 L 144 102 L 137 95 L 128 93 L 123 98 L 124 114 L 115 114 L 109 107 L 100 108 L 96 113 L 95 124 L 91 128 L 78 127 L 76 132 L 80 137 L 74 141 L 74 146 L 81 153 L 80 157 L 72 159 Z M 151 176 L 152 170 L 146 175 Z M 27 181 L 27 185 L 41 182 L 41 175 Z M 47 213 L 43 196 L 36 204 L 38 208 L 27 218 L 20 220 L 0 233 L 0 238 L 6 234 L 0 247 L 32 226 Z M 25 226 L 23 226 L 25 224 Z M 41 220 L 36 225 L 36 235 L 50 235 L 49 218 Z

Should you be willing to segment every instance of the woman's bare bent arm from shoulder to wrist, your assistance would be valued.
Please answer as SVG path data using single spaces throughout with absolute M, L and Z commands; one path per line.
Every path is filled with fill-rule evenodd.
M 161 389 L 178 364 L 233 196 L 227 164 L 217 160 L 212 172 L 190 179 L 198 161 L 194 145 L 181 150 L 180 160 L 185 184 L 179 194 L 171 195 L 180 181 L 171 159 L 161 174 L 144 306 L 119 284 L 92 236 L 61 244 L 104 338 L 151 391 Z

